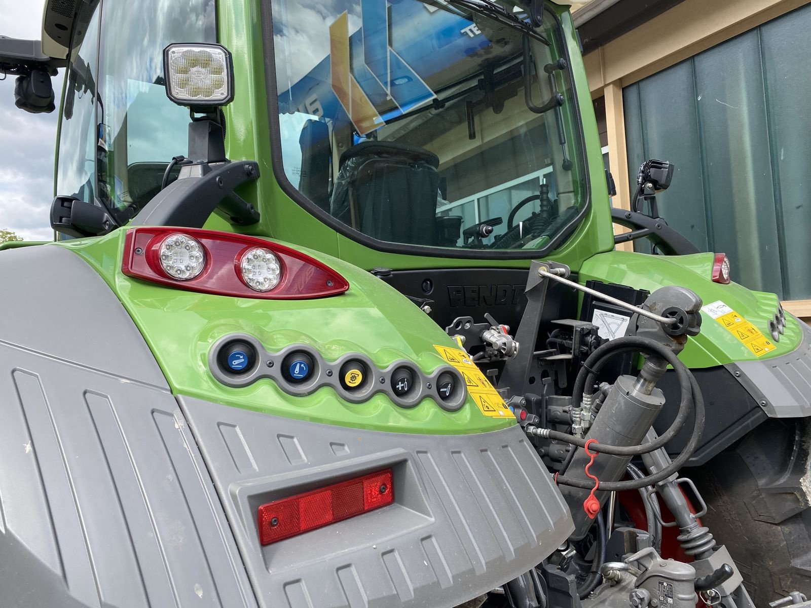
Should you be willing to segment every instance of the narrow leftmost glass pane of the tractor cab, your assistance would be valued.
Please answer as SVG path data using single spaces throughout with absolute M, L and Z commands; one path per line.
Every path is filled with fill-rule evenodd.
M 81 6 L 65 79 L 56 192 L 90 203 L 97 196 L 95 173 L 99 121 L 96 99 L 101 8 L 98 2 L 83 2 Z

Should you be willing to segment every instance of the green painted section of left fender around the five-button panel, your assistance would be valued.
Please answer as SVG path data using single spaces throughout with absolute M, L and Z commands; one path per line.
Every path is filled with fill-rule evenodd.
M 208 370 L 208 353 L 222 336 L 247 333 L 269 351 L 309 345 L 328 361 L 363 353 L 376 366 L 408 359 L 431 373 L 445 363 L 433 345 L 453 341 L 422 310 L 382 280 L 340 259 L 318 255 L 350 282 L 350 290 L 315 300 L 259 300 L 195 293 L 131 279 L 121 272 L 122 229 L 101 238 L 60 242 L 104 277 L 138 326 L 177 395 L 298 418 L 371 430 L 461 435 L 516 424 L 514 417 L 486 417 L 468 397 L 448 413 L 425 399 L 412 409 L 376 395 L 361 404 L 341 400 L 329 387 L 309 396 L 290 396 L 269 379 L 231 388 Z

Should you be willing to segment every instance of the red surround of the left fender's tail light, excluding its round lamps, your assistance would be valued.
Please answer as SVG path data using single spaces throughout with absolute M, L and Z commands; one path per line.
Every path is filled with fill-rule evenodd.
M 188 236 L 200 244 L 205 266 L 191 278 L 169 276 L 161 267 L 161 243 L 169 234 Z M 268 291 L 251 289 L 242 276 L 240 263 L 249 250 L 260 247 L 278 259 L 281 276 Z M 185 263 L 185 262 L 182 262 Z M 188 268 L 188 267 L 187 267 Z M 134 228 L 127 230 L 121 271 L 136 279 L 237 298 L 303 300 L 325 298 L 349 289 L 345 278 L 326 264 L 290 247 L 245 234 L 199 228 Z

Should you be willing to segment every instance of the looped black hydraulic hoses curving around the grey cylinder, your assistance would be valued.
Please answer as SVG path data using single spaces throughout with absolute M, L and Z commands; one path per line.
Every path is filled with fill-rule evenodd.
M 676 433 L 681 429 L 681 427 L 684 426 L 684 422 L 686 422 L 687 417 L 689 417 L 691 409 L 694 413 L 693 433 L 690 435 L 690 438 L 687 444 L 684 446 L 682 452 L 670 465 L 659 472 L 654 473 L 653 475 L 642 477 L 640 479 L 633 479 L 624 482 L 600 482 L 599 489 L 608 492 L 638 490 L 645 486 L 652 486 L 663 479 L 667 479 L 667 477 L 670 477 L 673 473 L 676 473 L 676 471 L 678 471 L 681 466 L 684 465 L 687 460 L 689 460 L 689 457 L 692 456 L 698 442 L 701 440 L 702 430 L 704 429 L 704 399 L 702 397 L 701 390 L 698 387 L 698 383 L 693 377 L 693 374 L 690 373 L 690 370 L 684 366 L 684 363 L 682 363 L 680 359 L 676 357 L 676 354 L 673 353 L 671 349 L 667 349 L 667 347 L 660 345 L 654 340 L 639 336 L 626 336 L 623 338 L 617 338 L 616 340 L 611 340 L 611 342 L 608 342 L 599 349 L 595 350 L 594 353 L 591 353 L 590 357 L 586 359 L 586 362 L 583 364 L 580 372 L 577 374 L 577 379 L 574 383 L 573 398 L 575 400 L 575 404 L 577 404 L 577 401 L 580 399 L 584 388 L 590 384 L 594 384 L 594 379 L 609 358 L 629 351 L 646 352 L 658 355 L 673 366 L 673 369 L 676 371 L 676 376 L 679 379 L 679 386 L 681 389 L 679 413 L 676 415 L 676 419 L 673 421 L 670 428 L 668 428 L 663 435 L 660 435 L 657 439 L 654 439 L 654 441 L 629 447 L 591 443 L 589 449 L 594 452 L 602 452 L 603 454 L 611 454 L 613 456 L 638 456 L 647 452 L 653 452 L 654 450 L 659 449 L 659 447 L 663 447 L 663 445 L 672 439 L 673 436 L 676 435 Z M 547 430 L 544 435 L 550 439 L 571 443 L 577 447 L 586 447 L 586 439 L 574 437 L 573 435 L 569 435 L 567 433 L 561 433 L 556 430 Z M 590 490 L 594 487 L 594 482 L 591 482 L 590 480 L 573 479 L 560 474 L 556 477 L 556 481 L 559 484 L 573 486 L 583 490 Z

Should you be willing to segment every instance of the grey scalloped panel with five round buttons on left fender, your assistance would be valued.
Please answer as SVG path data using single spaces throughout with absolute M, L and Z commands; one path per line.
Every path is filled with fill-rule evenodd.
M 290 345 L 271 353 L 247 334 L 217 340 L 208 364 L 212 375 L 226 386 L 247 387 L 260 379 L 270 379 L 293 396 L 332 387 L 341 400 L 350 403 L 363 403 L 384 393 L 401 408 L 413 408 L 431 399 L 448 412 L 461 409 L 467 399 L 464 380 L 449 365 L 431 374 L 405 360 L 381 369 L 360 353 L 328 361 L 310 345 Z

